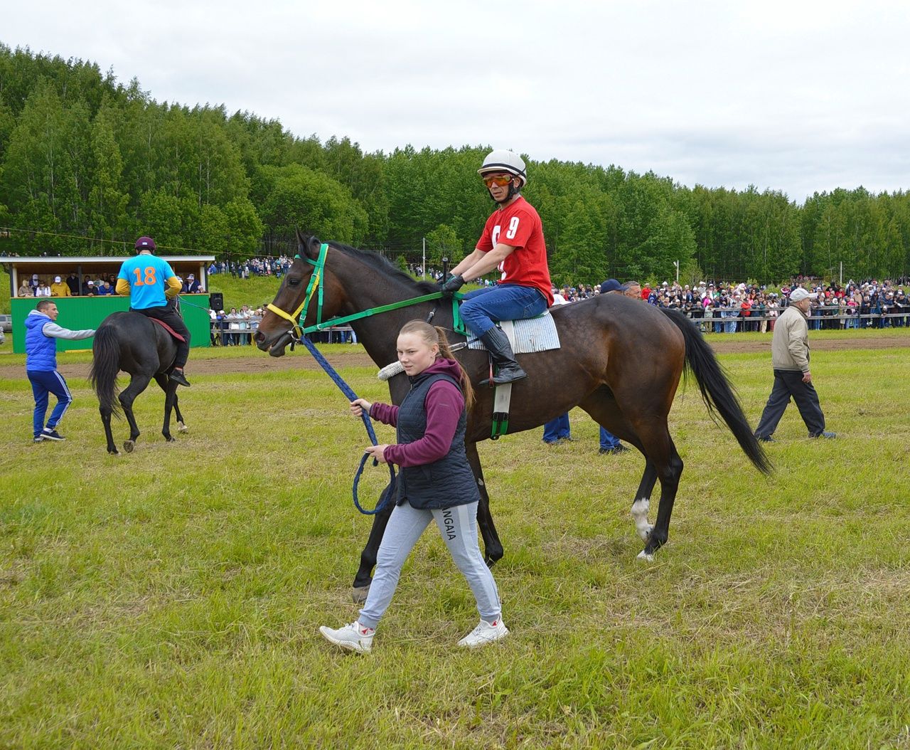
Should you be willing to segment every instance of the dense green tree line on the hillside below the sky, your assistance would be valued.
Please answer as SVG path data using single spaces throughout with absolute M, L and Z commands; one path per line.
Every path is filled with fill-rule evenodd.
M 510 146 L 511 144 L 503 144 Z M 489 146 L 364 153 L 277 120 L 157 102 L 134 79 L 0 44 L 0 237 L 5 254 L 122 254 L 139 234 L 241 259 L 296 227 L 409 259 L 470 252 L 493 204 Z M 910 194 L 689 188 L 652 172 L 528 160 L 557 283 L 910 272 Z M 677 266 L 678 264 L 678 266 Z

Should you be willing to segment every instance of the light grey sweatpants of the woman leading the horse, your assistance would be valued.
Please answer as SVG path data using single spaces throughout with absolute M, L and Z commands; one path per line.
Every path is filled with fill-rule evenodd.
M 501 616 L 500 592 L 477 544 L 477 503 L 445 510 L 421 510 L 411 508 L 406 501 L 392 510 L 389 525 L 382 535 L 376 556 L 376 573 L 358 618 L 361 625 L 375 628 L 379 624 L 398 587 L 404 561 L 432 520 L 440 528 L 452 560 L 468 580 L 480 617 L 493 622 Z

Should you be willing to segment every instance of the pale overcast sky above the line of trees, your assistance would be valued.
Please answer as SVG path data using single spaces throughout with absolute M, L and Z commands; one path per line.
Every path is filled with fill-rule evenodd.
M 487 145 L 685 185 L 910 189 L 910 3 L 9 3 L 0 41 L 365 151 Z M 533 174 L 530 175 L 533 180 Z

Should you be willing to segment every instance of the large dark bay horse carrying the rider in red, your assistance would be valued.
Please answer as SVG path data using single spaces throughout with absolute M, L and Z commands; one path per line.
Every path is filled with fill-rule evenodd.
M 289 314 L 300 309 L 308 283 L 319 266 L 320 241 L 298 232 L 298 242 L 298 255 L 273 302 Z M 320 283 L 323 320 L 438 291 L 436 284 L 415 282 L 374 252 L 337 243 L 330 244 L 325 254 Z M 313 294 L 313 302 L 301 313 L 303 325 L 317 322 L 315 298 Z M 373 362 L 382 367 L 397 360 L 396 340 L 401 326 L 414 318 L 426 320 L 431 313 L 432 324 L 447 329 L 450 343 L 464 340 L 464 336 L 451 333 L 448 301 L 417 303 L 360 318 L 351 326 Z M 753 465 L 770 473 L 771 465 L 753 436 L 733 389 L 711 347 L 690 320 L 617 294 L 560 305 L 550 313 L 561 348 L 519 354 L 528 377 L 512 385 L 509 432 L 541 426 L 573 406 L 580 406 L 595 422 L 637 447 L 645 458 L 642 481 L 632 502 L 635 527 L 645 543 L 640 558 L 652 560 L 669 534 L 682 459 L 670 437 L 667 416 L 684 367 L 688 366 L 695 376 L 706 406 L 723 418 Z M 259 324 L 256 343 L 272 356 L 281 356 L 293 340 L 292 330 L 285 317 L 269 311 Z M 480 488 L 477 519 L 486 560 L 492 564 L 502 557 L 502 545 L 490 516 L 490 498 L 477 451 L 477 444 L 491 433 L 493 390 L 477 385 L 488 376 L 488 357 L 484 351 L 467 348 L 461 349 L 458 357 L 477 391 L 477 400 L 468 415 L 465 447 Z M 409 387 L 407 375 L 392 377 L 392 403 L 399 404 Z M 652 526 L 648 523 L 648 510 L 658 479 L 661 497 Z M 369 587 L 390 512 L 389 509 L 374 516 L 354 579 L 356 596 L 365 596 Z

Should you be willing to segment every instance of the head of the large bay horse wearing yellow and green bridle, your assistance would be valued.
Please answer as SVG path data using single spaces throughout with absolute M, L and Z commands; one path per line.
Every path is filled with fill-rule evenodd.
M 285 347 L 294 341 L 294 325 L 291 324 L 288 317 L 274 312 L 271 308 L 277 308 L 288 316 L 299 313 L 300 325 L 311 325 L 316 323 L 316 303 L 308 304 L 308 309 L 302 309 L 307 297 L 307 289 L 313 274 L 317 272 L 317 261 L 319 259 L 319 249 L 322 243 L 317 237 L 308 237 L 297 232 L 298 252 L 294 256 L 294 261 L 290 264 L 288 272 L 278 287 L 278 293 L 275 299 L 269 305 L 268 311 L 262 316 L 262 322 L 259 324 L 259 330 L 255 335 L 256 345 L 263 351 L 272 356 L 281 356 L 285 353 Z M 319 269 L 323 272 L 323 269 Z M 319 283 L 325 283 L 325 279 L 320 279 Z M 317 291 L 313 287 L 312 296 L 316 296 Z

